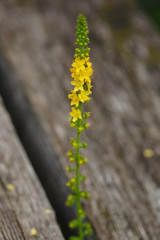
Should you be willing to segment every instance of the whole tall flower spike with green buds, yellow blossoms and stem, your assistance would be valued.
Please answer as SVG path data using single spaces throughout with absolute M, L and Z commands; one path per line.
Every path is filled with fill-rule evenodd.
M 92 63 L 89 58 L 88 27 L 83 14 L 78 16 L 76 35 L 75 55 L 72 68 L 70 69 L 73 78 L 71 82 L 73 89 L 68 98 L 71 100 L 72 106 L 70 125 L 76 129 L 77 137 L 76 139 L 71 139 L 70 144 L 73 150 L 67 152 L 71 164 L 66 168 L 66 171 L 74 172 L 74 177 L 67 182 L 67 186 L 71 189 L 72 194 L 68 196 L 66 205 L 72 206 L 76 204 L 77 208 L 77 219 L 71 221 L 69 227 L 78 228 L 79 235 L 78 237 L 71 237 L 70 240 L 83 240 L 85 236 L 92 234 L 92 228 L 90 223 L 85 221 L 86 213 L 81 205 L 81 198 L 88 199 L 89 193 L 80 188 L 80 183 L 86 180 L 86 176 L 80 174 L 80 166 L 87 163 L 87 159 L 80 155 L 80 149 L 87 147 L 85 142 L 80 142 L 80 133 L 89 127 L 86 119 L 90 116 L 90 113 L 83 112 L 82 105 L 91 99 L 89 95 L 92 93 L 91 76 L 93 74 Z

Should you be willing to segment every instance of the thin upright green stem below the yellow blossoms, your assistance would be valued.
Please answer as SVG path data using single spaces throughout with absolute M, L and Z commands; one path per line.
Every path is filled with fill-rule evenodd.
M 79 110 L 82 110 L 82 103 L 79 104 Z M 80 150 L 80 132 L 78 131 L 80 123 L 78 121 L 77 126 L 77 150 L 76 150 L 76 198 L 77 198 L 77 218 L 78 218 L 78 232 L 80 240 L 83 240 L 83 228 L 82 228 L 82 220 L 79 214 L 79 210 L 81 209 L 81 201 L 80 201 L 80 180 L 79 180 L 79 150 Z

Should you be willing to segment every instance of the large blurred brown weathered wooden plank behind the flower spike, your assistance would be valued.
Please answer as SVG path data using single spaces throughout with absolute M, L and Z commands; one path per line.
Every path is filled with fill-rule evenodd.
M 101 240 L 158 240 L 160 38 L 135 2 L 1 1 L 1 48 L 65 168 L 79 12 L 88 16 L 94 65 L 85 209 Z

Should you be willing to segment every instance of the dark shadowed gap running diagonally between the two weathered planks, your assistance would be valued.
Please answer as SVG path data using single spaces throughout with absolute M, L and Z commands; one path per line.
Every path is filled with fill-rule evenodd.
M 74 206 L 68 208 L 64 205 L 70 191 L 66 187 L 67 178 L 59 157 L 47 139 L 25 92 L 18 84 L 13 69 L 4 58 L 0 59 L 0 93 L 27 155 L 56 211 L 63 235 L 66 238 L 75 235 L 76 231 L 71 230 L 68 223 L 76 217 L 76 211 Z

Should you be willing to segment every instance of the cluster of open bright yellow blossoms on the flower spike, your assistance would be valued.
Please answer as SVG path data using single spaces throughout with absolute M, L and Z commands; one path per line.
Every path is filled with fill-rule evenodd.
M 75 105 L 75 107 L 72 107 L 70 115 L 73 117 L 73 122 L 76 122 L 78 118 L 82 118 L 81 111 L 78 109 L 80 102 L 89 102 L 91 99 L 89 95 L 92 93 L 91 76 L 93 69 L 90 58 L 75 58 L 70 71 L 73 77 L 71 84 L 74 86 L 74 89 L 71 90 L 68 98 L 71 99 L 71 105 Z

